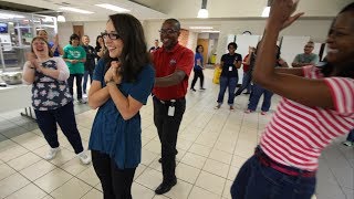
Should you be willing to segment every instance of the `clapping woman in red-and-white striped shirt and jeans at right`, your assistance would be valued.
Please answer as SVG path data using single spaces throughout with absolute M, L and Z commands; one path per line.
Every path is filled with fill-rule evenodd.
M 281 96 L 254 155 L 239 170 L 232 198 L 310 199 L 324 147 L 354 127 L 354 3 L 333 21 L 327 64 L 274 69 L 279 32 L 303 13 L 298 1 L 274 0 L 258 49 L 253 81 Z

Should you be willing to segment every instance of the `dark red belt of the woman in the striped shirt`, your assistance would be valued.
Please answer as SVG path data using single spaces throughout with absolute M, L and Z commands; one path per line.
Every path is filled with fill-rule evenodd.
M 285 165 L 281 165 L 274 160 L 272 160 L 267 154 L 262 151 L 260 147 L 256 148 L 254 156 L 258 158 L 258 160 L 261 163 L 261 165 L 266 167 L 271 167 L 282 174 L 289 175 L 289 176 L 299 176 L 299 177 L 305 177 L 311 178 L 316 175 L 316 171 L 308 171 L 302 170 L 299 168 L 289 167 Z

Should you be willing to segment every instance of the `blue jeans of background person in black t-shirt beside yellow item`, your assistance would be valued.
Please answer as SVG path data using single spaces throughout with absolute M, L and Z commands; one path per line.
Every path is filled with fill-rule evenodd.
M 238 77 L 220 76 L 220 92 L 219 92 L 218 101 L 217 101 L 218 104 L 222 104 L 226 88 L 229 87 L 228 104 L 230 106 L 233 105 L 235 90 L 236 90 L 236 85 L 237 85 L 238 81 L 239 81 Z

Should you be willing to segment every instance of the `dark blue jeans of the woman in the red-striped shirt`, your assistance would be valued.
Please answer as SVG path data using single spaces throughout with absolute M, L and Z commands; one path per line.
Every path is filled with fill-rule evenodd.
M 315 177 L 289 176 L 261 165 L 253 155 L 240 168 L 231 187 L 232 199 L 310 199 Z

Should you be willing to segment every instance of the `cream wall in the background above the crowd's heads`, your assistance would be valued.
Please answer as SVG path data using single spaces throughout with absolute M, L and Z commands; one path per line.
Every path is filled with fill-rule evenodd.
M 145 38 L 147 46 L 153 46 L 155 39 L 159 40 L 159 32 L 164 20 L 149 20 L 143 21 L 145 30 Z M 325 41 L 327 30 L 331 25 L 332 19 L 322 20 L 299 20 L 292 27 L 281 32 L 282 35 L 306 35 L 311 36 L 311 40 L 317 43 Z M 196 20 L 180 20 L 181 27 L 188 29 L 190 24 L 200 24 L 200 21 Z M 102 22 L 82 22 L 84 25 L 84 32 L 91 38 L 91 45 L 95 46 L 96 36 L 105 29 L 106 21 Z M 218 45 L 217 45 L 217 62 L 219 62 L 222 54 L 226 52 L 228 34 L 241 34 L 243 31 L 249 30 L 252 34 L 262 35 L 266 20 L 264 19 L 238 19 L 238 20 L 206 20 L 202 24 L 218 24 L 220 30 Z M 64 46 L 69 43 L 69 38 L 72 34 L 73 23 L 59 23 L 59 36 L 60 43 Z M 190 40 L 197 40 L 197 36 L 190 33 Z M 196 43 L 188 42 L 188 46 L 194 50 Z

